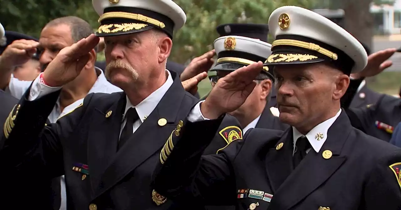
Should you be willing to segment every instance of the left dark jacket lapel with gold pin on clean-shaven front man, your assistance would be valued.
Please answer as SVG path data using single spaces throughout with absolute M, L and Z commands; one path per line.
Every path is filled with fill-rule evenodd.
M 292 128 L 288 128 L 277 144 L 267 152 L 265 158 L 266 170 L 273 192 L 279 188 L 292 172 L 292 144 Z

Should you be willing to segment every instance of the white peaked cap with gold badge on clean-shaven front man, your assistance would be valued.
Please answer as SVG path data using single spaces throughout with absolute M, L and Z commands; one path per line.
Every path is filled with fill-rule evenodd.
M 346 74 L 367 65 L 362 44 L 336 23 L 311 10 L 282 6 L 269 17 L 275 38 L 265 66 L 328 61 Z

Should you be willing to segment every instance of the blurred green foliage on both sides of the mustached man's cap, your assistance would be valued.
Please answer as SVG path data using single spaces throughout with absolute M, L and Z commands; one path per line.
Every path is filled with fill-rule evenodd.
M 174 0 L 186 12 L 185 26 L 174 34 L 171 60 L 185 63 L 213 48 L 216 27 L 224 23 L 265 23 L 279 6 L 315 8 L 320 0 Z M 47 22 L 78 16 L 93 28 L 99 24 L 90 0 L 0 0 L 0 22 L 6 30 L 38 37 Z

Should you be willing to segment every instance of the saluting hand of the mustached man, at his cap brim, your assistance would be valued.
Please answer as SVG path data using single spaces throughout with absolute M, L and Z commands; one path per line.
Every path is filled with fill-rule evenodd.
M 74 80 L 90 58 L 90 51 L 99 42 L 95 34 L 79 40 L 77 43 L 63 48 L 50 62 L 43 79 L 49 86 L 59 87 Z

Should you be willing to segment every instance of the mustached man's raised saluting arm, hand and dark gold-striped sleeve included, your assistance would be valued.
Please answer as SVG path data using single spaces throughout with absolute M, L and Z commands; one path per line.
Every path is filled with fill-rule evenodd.
M 59 90 L 77 78 L 98 42 L 99 38 L 91 34 L 63 48 L 34 80 L 4 124 L 0 166 L 27 171 L 30 176 L 35 173 L 49 177 L 64 174 L 62 142 L 79 126 L 86 107 L 78 107 L 56 124 L 45 127 L 45 122 L 57 101 Z M 87 96 L 84 104 L 89 104 L 92 96 Z

